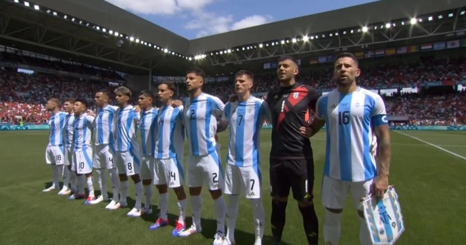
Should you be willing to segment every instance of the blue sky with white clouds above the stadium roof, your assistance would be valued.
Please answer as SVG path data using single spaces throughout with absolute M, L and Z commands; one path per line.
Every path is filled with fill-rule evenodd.
M 188 39 L 374 0 L 106 0 Z

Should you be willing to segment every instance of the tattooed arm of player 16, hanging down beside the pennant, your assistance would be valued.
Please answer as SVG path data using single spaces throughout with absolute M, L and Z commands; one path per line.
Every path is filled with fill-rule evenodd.
M 391 143 L 388 125 L 375 127 L 375 135 L 377 136 L 377 176 L 375 177 L 371 193 L 373 195 L 383 197 L 388 189 L 388 175 L 391 161 Z

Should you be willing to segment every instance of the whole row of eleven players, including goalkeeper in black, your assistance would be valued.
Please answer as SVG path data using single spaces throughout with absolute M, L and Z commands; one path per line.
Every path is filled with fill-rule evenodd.
M 236 96 L 224 105 L 217 97 L 202 92 L 205 74 L 197 68 L 186 72 L 189 99 L 184 105 L 173 101 L 174 86 L 171 82 L 158 86 L 158 99 L 162 103 L 160 109 L 152 107 L 153 96 L 148 91 L 140 93 L 139 106 L 133 108 L 128 104 L 131 92 L 125 87 L 115 89 L 118 107 L 108 105 L 107 91 L 96 93 L 96 117 L 92 112 L 86 113 L 87 104 L 83 100 L 65 101 L 67 114 L 59 111 L 59 101 L 51 99 L 47 109 L 54 113 L 50 119 L 51 134 L 46 158 L 52 165 L 54 184 L 45 191 L 59 189 L 61 166 L 69 163 L 70 168 L 63 168 L 65 185 L 59 193 L 70 193 L 70 176 L 74 191 L 70 199 L 84 198 L 83 176 L 86 176 L 89 189 L 86 203 L 99 203 L 108 198 L 104 187 L 104 170 L 108 169 L 113 197 L 106 208 L 114 210 L 127 206 L 130 176 L 136 187 L 136 204 L 128 216 L 138 217 L 152 212 L 151 188 L 155 184 L 160 207 L 159 218 L 150 227 L 155 230 L 168 224 L 167 188 L 172 188 L 178 197 L 180 210 L 172 235 L 186 237 L 202 230 L 200 193 L 202 186 L 207 184 L 217 218 L 214 245 L 235 243 L 238 198 L 240 193 L 244 193 L 251 201 L 255 245 L 259 245 L 265 220 L 261 200 L 259 134 L 262 122 L 268 120 L 273 125 L 270 183 L 274 244 L 281 243 L 290 189 L 298 201 L 308 243 L 317 244 L 318 221 L 312 202 L 314 170 L 309 137 L 326 123 L 327 149 L 322 187 L 322 202 L 327 208 L 324 239 L 337 244 L 339 218 L 347 193 L 352 192 L 353 201 L 361 211 L 359 200 L 362 197 L 369 192 L 382 196 L 388 188 L 390 147 L 385 106 L 380 96 L 356 85 L 360 70 L 352 54 L 337 57 L 334 76 L 338 88 L 322 97 L 313 88 L 295 82 L 298 71 L 293 57 L 280 58 L 277 75 L 281 87 L 269 92 L 266 101 L 250 94 L 254 75 L 239 71 L 235 76 Z M 315 117 L 309 123 L 311 111 Z M 141 150 L 136 138 L 138 128 Z M 230 140 L 223 171 L 215 135 L 226 129 L 229 129 Z M 189 228 L 184 222 L 186 194 L 182 186 L 185 176 L 181 164 L 185 132 L 189 146 L 186 183 L 193 220 Z M 94 155 L 91 135 L 95 138 Z M 379 144 L 381 161 L 378 164 L 371 153 L 376 144 L 373 135 L 377 135 Z M 103 193 L 97 198 L 93 193 L 93 168 Z M 77 184 L 74 184 L 74 178 L 78 179 Z M 146 197 L 144 207 L 141 204 L 143 188 Z M 229 196 L 227 205 L 222 190 Z M 364 241 L 370 241 L 371 235 L 363 222 L 362 212 L 358 213 L 362 219 L 361 241 L 366 244 Z

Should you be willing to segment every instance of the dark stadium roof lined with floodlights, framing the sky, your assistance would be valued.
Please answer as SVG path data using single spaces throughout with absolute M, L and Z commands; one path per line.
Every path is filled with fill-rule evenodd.
M 35 4 L 39 9 L 35 9 Z M 154 74 L 179 75 L 187 67 L 194 65 L 189 59 L 194 59 L 192 56 L 198 54 L 205 57 L 207 52 L 215 50 L 232 49 L 234 52 L 233 47 L 244 45 L 250 45 L 253 49 L 253 46 L 266 41 L 344 28 L 361 28 L 397 19 L 409 20 L 444 10 L 458 11 L 454 20 L 448 24 L 454 25 L 455 30 L 456 18 L 464 5 L 464 0 L 382 0 L 187 40 L 104 0 L 6 0 L 0 2 L 0 40 L 7 46 L 64 59 L 71 58 L 128 73 L 147 73 L 151 70 Z M 439 29 L 440 26 L 441 24 L 433 28 Z M 254 49 L 257 50 L 258 47 Z M 259 51 L 256 53 L 259 55 L 254 59 L 264 58 Z M 249 55 L 244 52 L 234 56 Z M 273 53 L 269 57 L 278 55 L 280 53 Z M 221 70 L 215 71 L 216 73 L 232 69 L 232 66 L 212 67 L 222 64 L 215 62 L 213 58 L 209 58 L 209 62 L 201 60 L 195 64 L 211 72 Z M 233 61 L 224 63 L 230 64 Z

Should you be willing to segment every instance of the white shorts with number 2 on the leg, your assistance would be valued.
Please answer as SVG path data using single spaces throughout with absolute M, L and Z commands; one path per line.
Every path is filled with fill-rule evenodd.
M 207 184 L 209 190 L 224 189 L 222 164 L 216 151 L 206 156 L 189 155 L 186 168 L 186 182 L 189 187 L 201 187 Z

